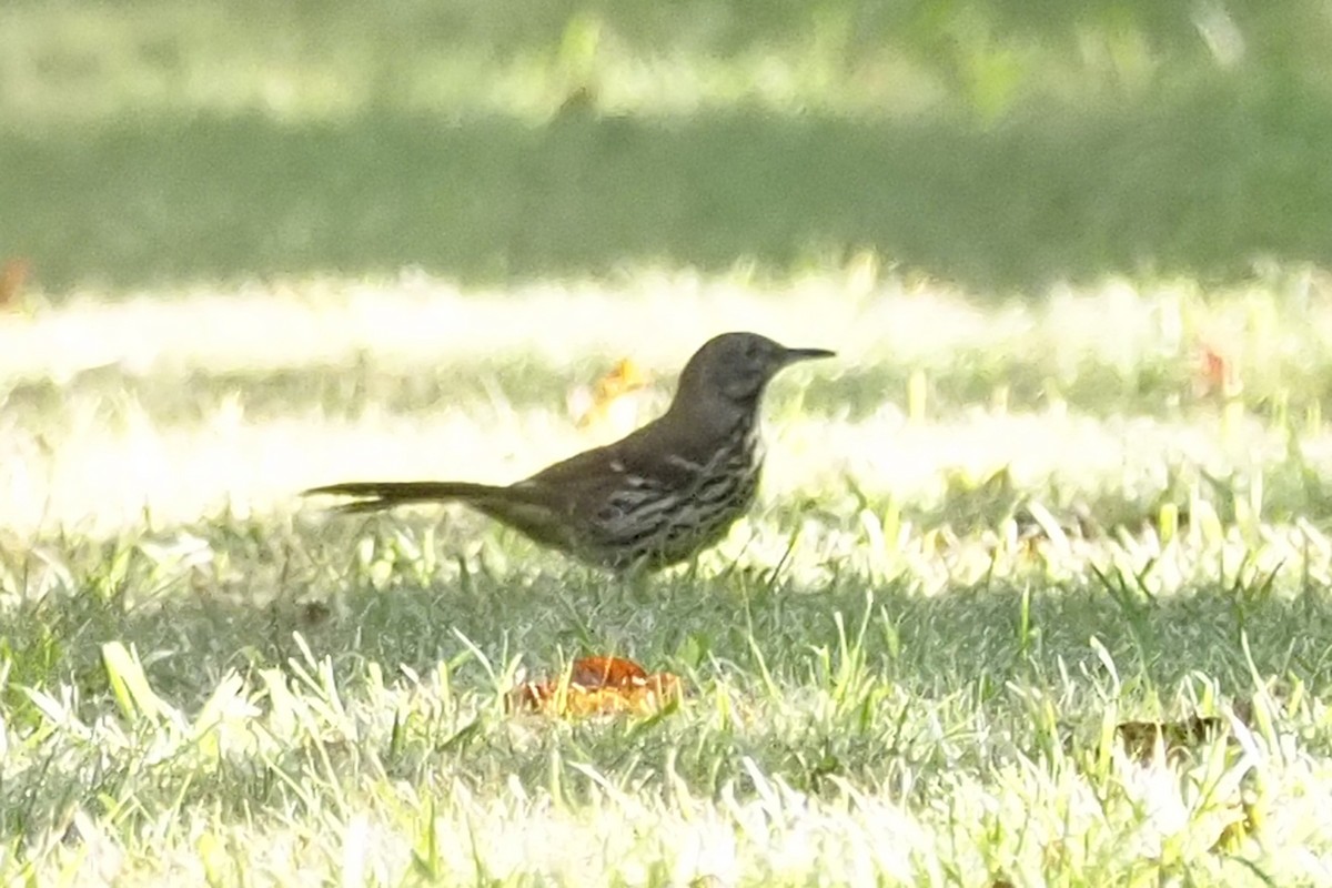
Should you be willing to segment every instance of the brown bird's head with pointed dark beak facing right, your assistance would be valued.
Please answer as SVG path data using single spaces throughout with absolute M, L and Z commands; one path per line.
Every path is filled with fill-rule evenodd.
M 834 354 L 827 349 L 789 349 L 757 333 L 723 333 L 705 342 L 685 365 L 675 403 L 722 398 L 751 406 L 782 367 Z

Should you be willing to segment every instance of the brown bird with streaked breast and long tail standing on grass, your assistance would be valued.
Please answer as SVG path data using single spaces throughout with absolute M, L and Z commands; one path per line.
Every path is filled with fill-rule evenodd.
M 757 333 L 723 333 L 685 363 L 662 415 L 523 481 L 357 481 L 302 495 L 352 497 L 336 506 L 341 514 L 460 502 L 594 567 L 655 571 L 721 542 L 749 511 L 763 467 L 759 409 L 767 383 L 798 361 L 834 355 Z

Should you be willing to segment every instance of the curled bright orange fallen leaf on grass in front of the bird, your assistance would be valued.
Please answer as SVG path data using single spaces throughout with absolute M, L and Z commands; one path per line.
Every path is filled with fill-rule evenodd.
M 618 656 L 574 660 L 559 679 L 525 682 L 509 692 L 509 707 L 555 716 L 629 712 L 651 715 L 683 694 L 683 682 L 670 672 L 649 674 Z

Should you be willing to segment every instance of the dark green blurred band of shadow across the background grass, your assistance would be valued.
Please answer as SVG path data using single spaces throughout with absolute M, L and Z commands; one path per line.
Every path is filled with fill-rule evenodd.
M 1183 95 L 1183 93 L 1188 95 Z M 377 112 L 0 140 L 0 244 L 49 290 L 404 265 L 469 282 L 622 262 L 778 268 L 874 248 L 975 288 L 1332 262 L 1332 105 L 1235 79 L 992 129 L 766 113 Z

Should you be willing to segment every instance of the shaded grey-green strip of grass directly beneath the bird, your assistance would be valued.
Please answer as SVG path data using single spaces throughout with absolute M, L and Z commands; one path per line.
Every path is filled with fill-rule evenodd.
M 923 595 L 910 579 L 876 580 L 832 562 L 817 580 L 774 580 L 771 566 L 737 567 L 715 554 L 625 580 L 462 510 L 429 519 L 305 517 L 285 529 L 221 521 L 64 541 L 63 553 L 56 563 L 45 549 L 0 551 L 9 576 L 36 582 L 55 566 L 65 578 L 64 588 L 11 608 L 9 683 L 77 679 L 95 690 L 100 644 L 123 640 L 151 663 L 155 687 L 186 710 L 228 670 L 300 656 L 293 632 L 334 666 L 373 660 L 425 674 L 456 659 L 466 663 L 460 687 L 482 692 L 486 670 L 468 651 L 497 671 L 513 656 L 539 672 L 613 652 L 703 682 L 757 682 L 766 671 L 782 687 L 802 686 L 844 647 L 836 615 L 871 672 L 924 696 L 1104 678 L 1094 638 L 1120 678 L 1163 698 L 1193 672 L 1252 691 L 1241 632 L 1263 676 L 1320 688 L 1332 666 L 1324 640 L 1332 606 L 1316 588 L 1292 588 L 1296 571 L 1275 591 L 1201 583 L 1135 600 L 1095 579 L 1035 575 Z M 29 656 L 43 639 L 49 656 Z

